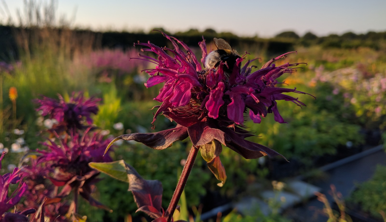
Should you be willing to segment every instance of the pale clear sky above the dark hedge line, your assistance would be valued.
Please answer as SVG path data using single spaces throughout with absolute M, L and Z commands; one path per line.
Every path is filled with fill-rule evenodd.
M 3 1 L 11 13 L 23 7 L 23 0 Z M 284 30 L 299 35 L 386 31 L 386 0 L 58 0 L 60 14 L 71 17 L 75 8 L 76 26 L 94 30 L 213 28 L 261 37 Z

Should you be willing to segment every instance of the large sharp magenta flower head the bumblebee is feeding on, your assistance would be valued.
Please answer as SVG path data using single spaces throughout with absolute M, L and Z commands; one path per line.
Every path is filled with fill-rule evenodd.
M 165 34 L 164 36 L 172 42 L 174 49 L 160 48 L 150 42 L 135 44 L 149 47 L 142 50 L 152 51 L 158 55 L 158 59 L 140 55 L 157 65 L 154 69 L 146 71 L 151 77 L 145 86 L 151 87 L 164 82 L 159 95 L 155 98 L 163 104 L 158 108 L 154 119 L 163 112 L 186 127 L 204 118 L 207 121 L 217 119 L 216 122 L 222 126 L 237 127 L 242 126 L 244 113 L 249 109 L 249 116 L 255 123 L 267 113 L 274 113 L 275 120 L 284 123 L 278 112 L 276 100 L 284 99 L 298 106 L 304 106 L 298 99 L 282 93 L 305 93 L 296 89 L 276 87 L 279 83 L 276 79 L 279 76 L 295 71 L 295 66 L 299 65 L 273 64 L 274 61 L 286 57 L 288 53 L 271 59 L 254 72 L 252 67 L 248 67 L 251 61 L 241 66 L 245 58 L 237 58 L 228 77 L 224 70 L 229 65 L 225 62 L 221 62 L 217 69 L 202 70 L 193 52 L 183 42 Z M 183 46 L 186 53 L 179 49 L 178 43 Z M 204 61 L 207 56 L 205 41 L 199 45 L 203 53 L 201 61 Z M 174 56 L 167 52 L 171 52 Z

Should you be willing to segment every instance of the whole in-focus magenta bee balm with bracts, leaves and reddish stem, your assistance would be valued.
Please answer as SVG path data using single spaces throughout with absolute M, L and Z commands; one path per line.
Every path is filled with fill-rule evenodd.
M 222 146 L 227 146 L 244 158 L 253 159 L 261 156 L 280 155 L 274 150 L 258 143 L 245 140 L 253 134 L 244 127 L 247 113 L 254 123 L 260 123 L 261 117 L 274 114 L 275 121 L 285 123 L 279 114 L 277 100 L 291 101 L 298 106 L 305 106 L 297 98 L 283 93 L 307 94 L 295 89 L 277 87 L 281 84 L 276 79 L 284 73 L 292 73 L 299 63 L 275 66 L 274 62 L 286 57 L 286 54 L 271 59 L 261 69 L 252 71 L 251 61 L 242 62 L 246 54 L 237 56 L 235 61 L 221 60 L 213 68 L 203 69 L 207 59 L 205 40 L 199 43 L 202 50 L 201 63 L 192 50 L 183 42 L 164 34 L 173 45 L 173 49 L 158 47 L 151 42 L 138 42 L 134 45 L 146 47 L 143 52 L 153 52 L 157 58 L 139 54 L 142 60 L 154 63 L 153 69 L 146 72 L 151 76 L 145 83 L 152 87 L 163 83 L 159 95 L 154 98 L 161 102 L 156 106 L 153 122 L 157 116 L 164 115 L 175 121 L 175 128 L 156 133 L 132 133 L 115 138 L 115 141 L 135 140 L 156 150 L 163 150 L 174 141 L 190 138 L 193 146 L 186 160 L 181 177 L 168 209 L 161 207 L 162 185 L 156 180 L 144 180 L 130 165 L 120 162 L 128 174 L 129 190 L 134 195 L 139 209 L 154 218 L 155 222 L 173 221 L 173 213 L 189 173 L 193 167 L 198 150 L 207 161 L 207 165 L 222 186 L 226 180 L 225 169 L 220 161 Z M 281 156 L 281 155 L 280 155 Z M 117 162 L 110 163 L 110 166 Z M 90 163 L 91 167 L 107 172 L 103 167 Z M 119 171 L 117 171 L 119 172 Z M 117 173 L 107 172 L 119 178 Z

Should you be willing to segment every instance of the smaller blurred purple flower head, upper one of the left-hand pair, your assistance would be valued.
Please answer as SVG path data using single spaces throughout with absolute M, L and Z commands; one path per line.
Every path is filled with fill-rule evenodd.
M 43 97 L 36 99 L 36 102 L 41 106 L 37 111 L 42 111 L 43 116 L 49 116 L 50 119 L 56 119 L 58 126 L 56 128 L 65 127 L 66 129 L 85 129 L 84 120 L 88 124 L 92 124 L 91 114 L 98 113 L 98 102 L 100 99 L 90 98 L 85 99 L 80 93 L 75 96 L 72 94 L 69 103 L 66 103 L 61 95 L 58 95 L 59 101 Z

